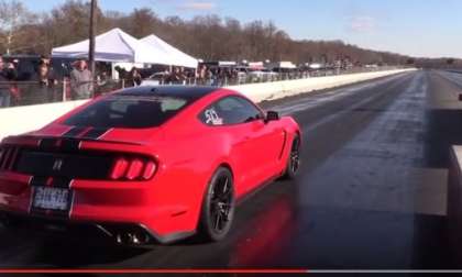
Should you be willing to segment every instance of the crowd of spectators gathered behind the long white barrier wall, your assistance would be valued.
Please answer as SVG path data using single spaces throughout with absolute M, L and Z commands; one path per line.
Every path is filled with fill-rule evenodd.
M 28 63 L 29 67 L 25 66 Z M 112 78 L 114 73 L 118 74 L 118 78 Z M 120 66 L 112 68 L 111 64 L 97 63 L 94 76 L 86 60 L 59 60 L 50 56 L 40 56 L 33 62 L 28 62 L 26 58 L 0 56 L 0 108 L 88 99 L 117 89 L 143 85 L 221 87 L 308 78 L 328 73 L 340 74 L 340 67 L 337 70 L 327 68 L 315 71 L 301 67 L 290 70 L 280 70 L 280 68 L 270 70 L 264 67 L 252 69 L 240 65 L 220 66 L 219 63 L 202 63 L 197 69 L 152 66 L 132 67 L 127 70 Z

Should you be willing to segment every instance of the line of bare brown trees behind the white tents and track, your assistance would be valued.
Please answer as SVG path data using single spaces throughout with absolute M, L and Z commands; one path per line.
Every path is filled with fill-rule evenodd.
M 53 47 L 88 37 L 89 1 L 67 0 L 48 12 L 33 13 L 20 0 L 0 0 L 0 53 L 50 54 Z M 363 49 L 342 41 L 297 41 L 274 22 L 242 23 L 218 15 L 160 18 L 151 8 L 129 13 L 97 11 L 97 31 L 120 27 L 141 38 L 156 34 L 167 43 L 204 60 L 290 60 L 403 65 L 416 60 L 404 55 Z

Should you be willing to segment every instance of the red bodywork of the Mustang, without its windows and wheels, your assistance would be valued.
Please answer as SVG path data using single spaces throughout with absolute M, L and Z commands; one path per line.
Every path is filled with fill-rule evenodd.
M 4 138 L 0 144 L 0 212 L 26 220 L 91 224 L 108 234 L 117 230 L 144 232 L 150 239 L 169 243 L 197 231 L 207 185 L 217 168 L 232 173 L 238 200 L 284 174 L 292 142 L 300 135 L 292 118 L 208 125 L 200 119 L 208 107 L 227 97 L 245 97 L 202 87 L 122 92 L 130 96 L 148 90 L 163 96 L 189 95 L 194 100 L 154 128 L 98 129 L 66 123 L 121 93 L 114 92 L 38 131 Z M 124 171 L 114 169 L 118 166 Z M 34 208 L 34 190 L 43 187 L 64 188 L 69 207 Z

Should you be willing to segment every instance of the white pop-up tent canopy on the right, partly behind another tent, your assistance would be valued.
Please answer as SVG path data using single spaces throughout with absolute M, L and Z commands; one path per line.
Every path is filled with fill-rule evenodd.
M 148 44 L 150 46 L 161 49 L 167 53 L 167 57 L 169 59 L 169 65 L 173 66 L 184 66 L 189 68 L 197 68 L 198 60 L 182 51 L 175 48 L 174 46 L 169 45 L 168 43 L 164 42 L 156 35 L 148 35 L 141 40 Z

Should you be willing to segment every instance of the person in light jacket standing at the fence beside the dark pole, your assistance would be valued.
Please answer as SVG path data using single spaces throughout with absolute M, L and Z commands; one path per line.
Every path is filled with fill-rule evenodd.
M 70 73 L 70 95 L 73 100 L 88 99 L 92 91 L 91 71 L 85 60 L 77 60 Z

